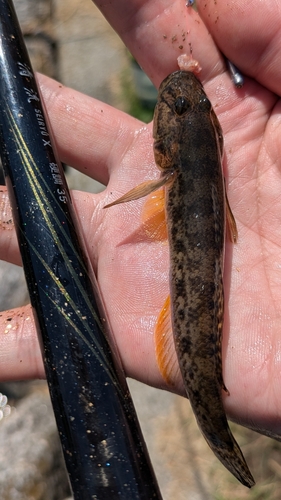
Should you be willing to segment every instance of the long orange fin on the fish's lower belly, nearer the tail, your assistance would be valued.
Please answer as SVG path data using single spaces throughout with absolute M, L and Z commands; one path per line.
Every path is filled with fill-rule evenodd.
M 179 372 L 172 333 L 170 295 L 165 300 L 154 331 L 156 360 L 162 377 L 169 386 L 175 385 Z

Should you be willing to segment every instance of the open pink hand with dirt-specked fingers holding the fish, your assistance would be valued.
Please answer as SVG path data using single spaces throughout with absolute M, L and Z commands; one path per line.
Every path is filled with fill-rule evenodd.
M 177 69 L 177 56 L 189 52 L 189 43 L 203 68 L 200 78 L 224 131 L 228 197 L 239 232 L 238 243 L 226 245 L 225 407 L 235 420 L 281 433 L 280 14 L 267 2 L 256 1 L 255 10 L 246 0 L 217 2 L 214 10 L 201 1 L 206 27 L 184 0 L 96 4 L 157 86 Z M 207 30 L 249 76 L 243 89 L 233 87 Z M 153 328 L 168 294 L 168 247 L 142 235 L 142 200 L 103 210 L 159 175 L 152 127 L 46 77 L 40 85 L 62 161 L 108 183 L 103 193 L 74 192 L 73 199 L 126 374 L 164 387 Z M 5 192 L 0 207 L 5 221 Z M 0 258 L 20 263 L 15 234 L 4 227 Z M 44 376 L 30 307 L 2 313 L 0 332 L 0 378 Z

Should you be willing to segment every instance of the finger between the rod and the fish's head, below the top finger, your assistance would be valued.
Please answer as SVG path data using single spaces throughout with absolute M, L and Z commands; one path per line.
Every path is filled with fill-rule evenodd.
M 37 77 L 61 161 L 107 184 L 110 169 L 143 124 L 51 78 Z

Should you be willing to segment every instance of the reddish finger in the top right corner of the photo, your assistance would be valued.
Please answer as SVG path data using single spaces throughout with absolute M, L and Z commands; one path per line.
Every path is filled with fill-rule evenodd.
M 239 69 L 280 95 L 279 2 L 200 0 L 198 10 L 222 52 Z

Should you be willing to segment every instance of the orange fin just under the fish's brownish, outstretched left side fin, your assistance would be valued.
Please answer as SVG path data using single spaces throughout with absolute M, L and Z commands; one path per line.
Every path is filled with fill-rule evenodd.
M 146 234 L 153 240 L 167 239 L 165 189 L 157 189 L 147 198 L 142 210 L 142 223 Z

